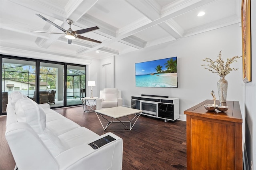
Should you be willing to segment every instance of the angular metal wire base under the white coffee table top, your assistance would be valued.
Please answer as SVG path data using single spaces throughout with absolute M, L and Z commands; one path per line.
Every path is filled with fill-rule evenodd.
M 108 121 L 106 127 L 103 126 L 102 124 L 102 121 L 100 120 L 100 124 L 102 125 L 103 129 L 104 130 L 132 130 L 132 128 L 134 127 L 136 121 L 138 120 L 138 118 L 140 117 L 140 113 L 136 113 L 134 114 L 134 118 L 132 118 L 131 120 L 127 117 L 127 116 L 124 116 L 128 119 L 128 121 L 120 121 L 118 118 L 113 118 L 113 117 L 110 117 L 110 119 L 106 119 L 106 117 L 104 117 L 104 115 L 100 114 L 100 113 L 97 113 L 95 112 L 98 119 L 100 120 L 100 117 L 98 115 L 100 115 L 101 117 L 103 117 L 103 119 L 105 119 L 106 121 Z M 122 117 L 123 118 L 123 117 Z M 135 119 L 134 123 L 132 124 L 132 121 Z M 115 120 L 118 120 L 118 121 L 115 121 Z M 126 127 L 126 129 L 107 129 L 112 123 L 122 123 L 122 125 L 124 125 Z M 125 125 L 124 123 L 129 123 L 129 126 Z

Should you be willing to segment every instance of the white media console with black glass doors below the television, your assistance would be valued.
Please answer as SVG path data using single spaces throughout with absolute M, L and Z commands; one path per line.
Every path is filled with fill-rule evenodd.
M 142 115 L 174 121 L 180 117 L 178 98 L 161 97 L 155 95 L 132 96 L 131 108 L 142 110 Z

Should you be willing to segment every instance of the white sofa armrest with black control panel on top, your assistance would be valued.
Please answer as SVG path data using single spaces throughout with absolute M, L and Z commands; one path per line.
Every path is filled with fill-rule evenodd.
M 104 136 L 110 135 L 116 140 L 98 148 L 89 146 Z M 98 136 L 94 140 L 75 146 L 56 156 L 60 169 L 84 169 L 84 170 L 121 170 L 123 156 L 122 138 L 113 133 L 106 133 Z

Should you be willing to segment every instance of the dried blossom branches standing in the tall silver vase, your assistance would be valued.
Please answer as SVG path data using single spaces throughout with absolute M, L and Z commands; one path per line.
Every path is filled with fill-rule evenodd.
M 242 56 L 240 56 L 242 57 Z M 216 61 L 212 61 L 210 58 L 202 59 L 202 61 L 209 62 L 210 64 L 204 64 L 201 66 L 206 66 L 204 69 L 208 69 L 212 73 L 218 73 L 220 76 L 226 76 L 230 73 L 232 70 L 238 70 L 235 68 L 230 68 L 230 64 L 233 63 L 234 61 L 237 62 L 236 59 L 240 58 L 237 56 L 234 56 L 232 58 L 228 58 L 226 64 L 224 63 L 224 60 L 221 58 L 221 51 L 220 54 L 218 55 L 218 59 Z M 208 68 L 207 68 L 208 67 Z

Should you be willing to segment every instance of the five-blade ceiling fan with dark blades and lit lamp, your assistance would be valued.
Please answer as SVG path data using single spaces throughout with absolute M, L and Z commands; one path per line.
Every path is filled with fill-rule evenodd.
M 73 31 L 71 29 L 71 24 L 73 24 L 73 21 L 72 20 L 66 20 L 66 22 L 69 24 L 69 28 L 68 30 L 65 30 L 63 28 L 61 28 L 60 26 L 54 24 L 53 22 L 51 22 L 50 20 L 48 20 L 47 18 L 41 16 L 40 14 L 36 14 L 37 16 L 39 16 L 40 18 L 42 18 L 43 20 L 45 20 L 46 22 L 52 24 L 53 26 L 55 26 L 56 28 L 62 30 L 64 33 L 58 33 L 58 32 L 42 32 L 42 31 L 30 31 L 30 32 L 40 32 L 40 33 L 50 33 L 50 34 L 65 34 L 65 37 L 68 39 L 68 44 L 71 44 L 72 43 L 72 40 L 75 39 L 75 38 L 78 38 L 78 39 L 82 39 L 82 40 L 86 40 L 86 41 L 91 41 L 91 42 L 96 42 L 96 43 L 101 43 L 97 40 L 93 40 L 93 39 L 90 39 L 90 38 L 87 38 L 87 37 L 84 37 L 84 36 L 80 36 L 79 34 L 84 34 L 86 32 L 90 32 L 90 31 L 93 31 L 93 30 L 97 30 L 99 29 L 97 26 L 96 27 L 91 27 L 91 28 L 85 28 L 85 29 L 82 29 L 82 30 L 76 30 L 76 31 Z

